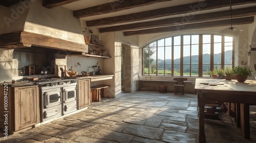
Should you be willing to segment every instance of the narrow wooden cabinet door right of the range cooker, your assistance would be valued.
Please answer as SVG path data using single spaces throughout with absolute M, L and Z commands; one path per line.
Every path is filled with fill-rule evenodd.
M 79 80 L 78 82 L 78 109 L 91 105 L 90 79 Z

